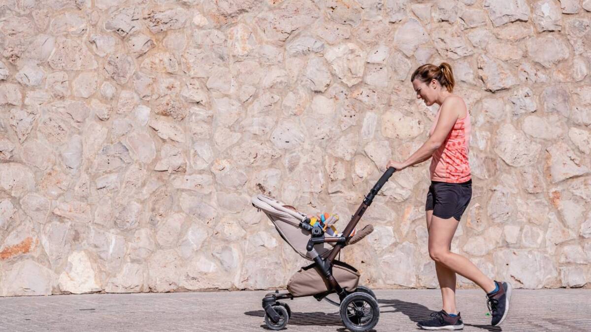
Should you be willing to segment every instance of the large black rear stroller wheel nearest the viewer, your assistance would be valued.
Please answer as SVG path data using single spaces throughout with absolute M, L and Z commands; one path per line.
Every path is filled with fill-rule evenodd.
M 352 332 L 369 331 L 378 324 L 378 301 L 365 292 L 353 292 L 340 302 L 340 319 Z

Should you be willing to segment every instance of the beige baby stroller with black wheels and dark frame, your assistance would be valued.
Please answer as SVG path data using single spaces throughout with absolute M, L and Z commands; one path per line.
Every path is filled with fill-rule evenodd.
M 365 196 L 343 233 L 336 236 L 329 236 L 319 223 L 311 225 L 306 214 L 287 209 L 280 201 L 264 195 L 252 197 L 252 205 L 267 214 L 285 242 L 303 258 L 314 261 L 291 277 L 287 284 L 288 292 L 271 292 L 262 299 L 268 328 L 281 330 L 291 316 L 289 305 L 279 300 L 310 295 L 318 301 L 324 299 L 339 307 L 340 318 L 350 331 L 368 331 L 378 323 L 379 307 L 374 292 L 358 285 L 359 273 L 353 266 L 335 258 L 340 249 L 358 242 L 374 230 L 372 225 L 367 225 L 351 236 L 359 219 L 394 171 L 390 167 L 384 172 Z M 334 293 L 339 296 L 340 302 L 327 298 L 327 295 Z

